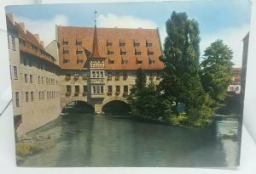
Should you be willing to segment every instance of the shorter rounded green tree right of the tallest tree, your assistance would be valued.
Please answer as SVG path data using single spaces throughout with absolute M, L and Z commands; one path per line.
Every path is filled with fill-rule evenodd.
M 203 55 L 201 81 L 205 91 L 217 102 L 224 99 L 232 79 L 232 57 L 232 51 L 222 40 L 212 42 Z

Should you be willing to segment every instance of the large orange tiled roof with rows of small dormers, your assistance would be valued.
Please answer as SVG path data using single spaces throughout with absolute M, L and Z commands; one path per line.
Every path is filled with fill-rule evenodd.
M 107 57 L 108 59 L 110 57 L 114 60 L 114 64 L 109 64 L 108 59 L 105 59 L 105 70 L 137 70 L 138 68 L 162 70 L 164 68 L 160 61 L 162 53 L 157 29 L 96 28 L 97 48 L 92 48 L 95 36 L 94 27 L 58 26 L 57 35 L 59 42 L 61 42 L 59 55 L 62 69 L 80 70 L 89 68 L 88 66 L 84 68 L 84 64 L 77 64 L 76 50 L 78 46 L 75 42 L 78 36 L 84 48 L 84 63 L 88 61 L 87 57 L 93 55 L 93 57 Z M 63 39 L 68 41 L 68 45 L 62 45 Z M 149 49 L 154 52 L 153 55 L 150 55 L 155 60 L 155 64 L 152 65 L 149 65 L 148 48 L 146 47 L 146 43 L 149 41 L 152 43 L 152 47 Z M 112 46 L 107 46 L 107 42 L 112 42 Z M 125 43 L 125 46 L 120 47 L 120 42 Z M 141 52 L 139 56 L 135 55 L 134 42 L 140 43 L 137 47 Z M 64 46 L 69 50 L 69 54 L 67 54 L 70 59 L 69 63 L 63 63 L 63 59 L 67 58 L 66 54 L 62 53 Z M 108 50 L 113 51 L 113 54 L 108 55 Z M 121 50 L 124 50 L 126 54 L 120 55 Z M 99 55 L 96 55 L 96 52 Z M 137 64 L 137 57 L 143 60 L 142 64 Z M 122 65 L 122 59 L 128 60 L 127 65 Z

